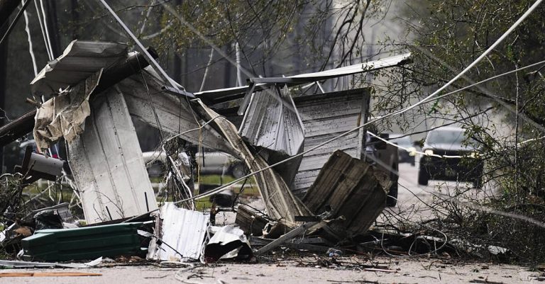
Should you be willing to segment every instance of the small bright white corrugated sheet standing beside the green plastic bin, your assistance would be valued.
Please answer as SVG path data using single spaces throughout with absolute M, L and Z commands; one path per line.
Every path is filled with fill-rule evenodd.
M 159 217 L 160 222 L 156 222 L 155 232 L 161 242 L 157 244 L 157 239 L 152 239 L 148 259 L 200 259 L 209 216 L 202 212 L 177 208 L 174 203 L 165 203 L 160 209 Z

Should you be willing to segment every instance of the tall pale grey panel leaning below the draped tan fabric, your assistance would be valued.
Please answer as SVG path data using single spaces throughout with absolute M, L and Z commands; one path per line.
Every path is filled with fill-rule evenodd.
M 67 143 L 87 224 L 157 209 L 123 95 L 109 89 L 94 98 L 91 109 L 85 131 Z

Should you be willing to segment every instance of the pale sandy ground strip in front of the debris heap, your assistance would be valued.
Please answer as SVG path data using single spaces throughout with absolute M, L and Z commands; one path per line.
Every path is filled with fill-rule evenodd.
M 0 278 L 0 283 L 539 283 L 542 271 L 495 263 L 459 262 L 451 259 L 401 259 L 385 256 L 369 261 L 363 256 L 329 258 L 261 259 L 260 263 L 219 263 L 192 267 L 156 265 L 111 266 L 87 269 L 6 269 L 6 272 L 88 272 L 101 276 Z M 263 263 L 265 261 L 266 263 Z M 380 267 L 378 271 L 368 266 Z

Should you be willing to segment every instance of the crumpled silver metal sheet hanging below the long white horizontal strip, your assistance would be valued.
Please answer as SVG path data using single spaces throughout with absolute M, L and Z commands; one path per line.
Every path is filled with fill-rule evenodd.
M 303 152 L 303 123 L 287 88 L 254 93 L 238 133 L 251 145 L 262 148 L 261 156 L 268 164 Z M 287 184 L 292 183 L 301 159 L 275 167 Z

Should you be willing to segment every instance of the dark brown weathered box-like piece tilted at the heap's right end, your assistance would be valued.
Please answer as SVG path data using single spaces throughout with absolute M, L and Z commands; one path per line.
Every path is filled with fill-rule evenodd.
M 329 211 L 332 217 L 342 216 L 330 227 L 351 237 L 367 232 L 384 210 L 391 183 L 384 171 L 337 150 L 302 201 L 315 215 Z

